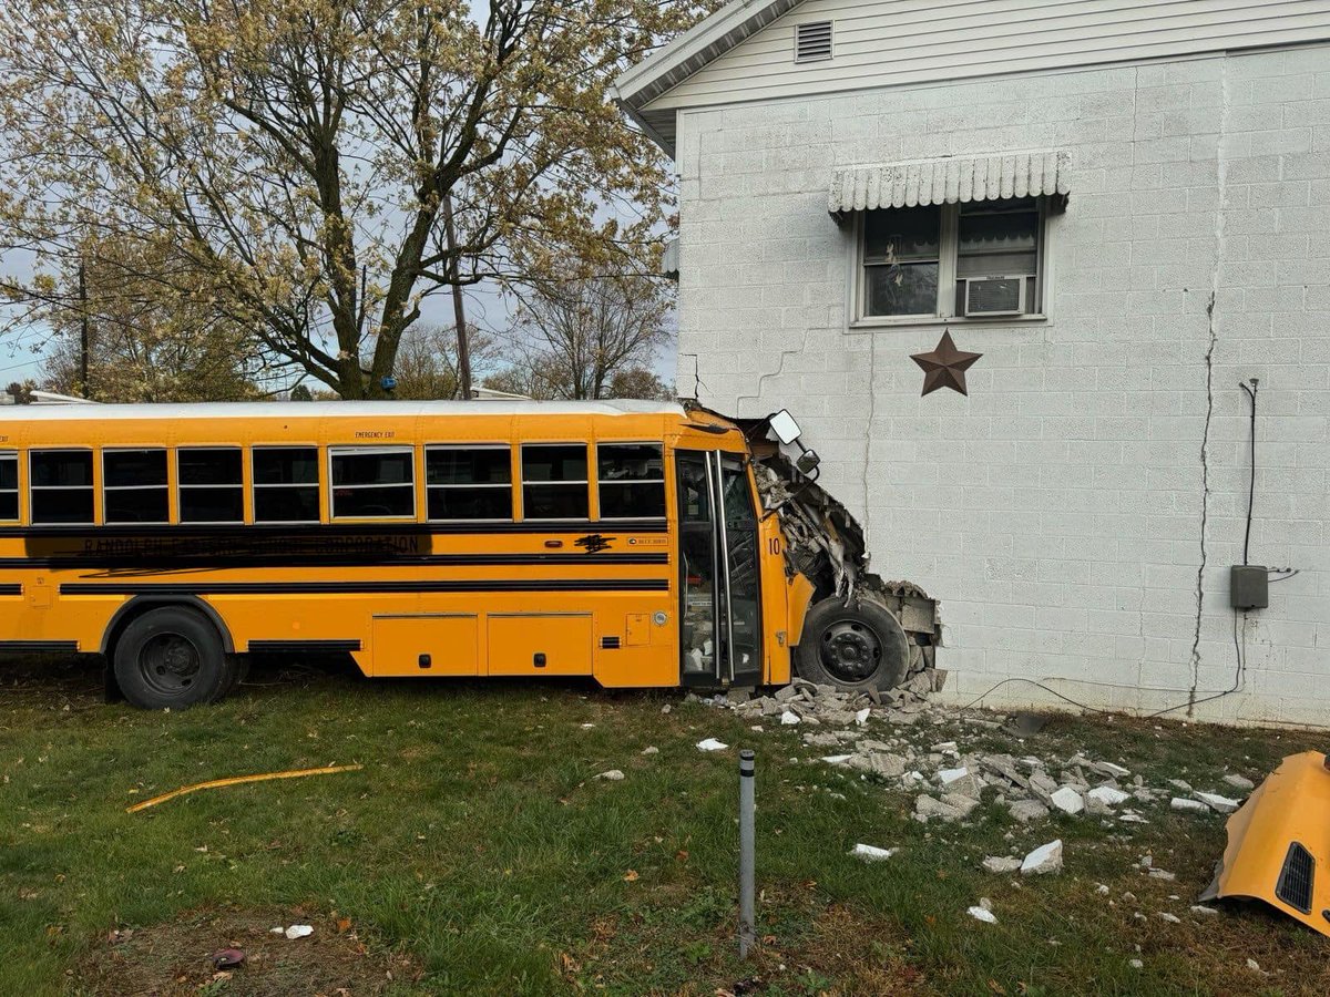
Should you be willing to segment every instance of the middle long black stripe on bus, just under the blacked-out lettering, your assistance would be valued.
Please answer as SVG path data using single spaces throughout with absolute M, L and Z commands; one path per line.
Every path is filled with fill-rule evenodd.
M 142 554 L 117 554 L 88 552 L 85 554 L 57 554 L 55 557 L 0 557 L 0 569 L 45 568 L 59 569 L 184 569 L 184 568 L 376 568 L 398 565 L 438 565 L 438 566 L 499 566 L 499 565 L 588 565 L 626 564 L 661 565 L 669 564 L 668 553 L 604 552 L 598 554 L 398 554 L 392 550 L 367 552 L 362 554 L 338 554 L 318 552 L 285 553 L 273 550 L 266 557 L 257 553 L 206 554 L 145 552 Z M 4 586 L 0 586 L 4 594 Z

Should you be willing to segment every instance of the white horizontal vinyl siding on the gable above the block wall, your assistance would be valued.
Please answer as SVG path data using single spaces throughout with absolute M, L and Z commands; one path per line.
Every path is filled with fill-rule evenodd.
M 795 64 L 795 25 L 819 20 L 835 57 Z M 1327 39 L 1327 0 L 809 0 L 645 110 Z

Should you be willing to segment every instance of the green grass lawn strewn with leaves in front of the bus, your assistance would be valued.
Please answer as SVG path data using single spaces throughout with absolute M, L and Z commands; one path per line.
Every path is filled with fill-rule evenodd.
M 148 714 L 102 705 L 90 666 L 0 665 L 0 993 L 134 992 L 142 973 L 125 966 L 153 958 L 164 993 L 319 992 L 273 965 L 210 980 L 207 956 L 227 939 L 206 927 L 189 936 L 197 952 L 153 948 L 156 931 L 246 917 L 317 924 L 321 940 L 340 921 L 347 958 L 398 958 L 370 988 L 388 993 L 1330 992 L 1323 937 L 1260 908 L 1188 915 L 1222 818 L 1165 804 L 1148 826 L 1020 827 L 984 807 L 968 826 L 924 827 L 910 795 L 810 762 L 823 752 L 797 730 L 755 734 L 678 693 L 253 681 L 217 707 Z M 732 750 L 697 751 L 705 736 Z M 1028 744 L 1210 788 L 1225 770 L 1260 779 L 1317 740 L 1059 718 Z M 758 752 L 762 944 L 747 962 L 734 942 L 739 746 Z M 344 763 L 364 768 L 125 812 L 186 783 Z M 595 778 L 608 768 L 626 778 Z M 979 868 L 1059 836 L 1060 876 Z M 847 856 L 857 841 L 902 851 L 863 864 Z M 1177 880 L 1146 877 L 1144 853 Z M 966 915 L 980 896 L 996 925 Z M 149 941 L 108 941 L 126 928 Z

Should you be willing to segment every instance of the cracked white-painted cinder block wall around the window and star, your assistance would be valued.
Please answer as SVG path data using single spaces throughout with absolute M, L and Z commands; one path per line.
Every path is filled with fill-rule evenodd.
M 850 328 L 831 167 L 1027 149 L 1071 156 L 1048 320 L 954 323 L 970 397 L 920 397 L 942 326 Z M 1330 718 L 1330 48 L 685 110 L 677 167 L 681 393 L 799 416 L 875 569 L 942 600 L 951 698 L 1233 685 L 1256 376 L 1252 561 L 1301 573 L 1196 715 Z

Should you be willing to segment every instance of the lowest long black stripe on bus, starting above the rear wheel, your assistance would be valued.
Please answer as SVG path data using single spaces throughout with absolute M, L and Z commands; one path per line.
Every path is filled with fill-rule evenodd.
M 666 578 L 517 578 L 340 582 L 65 582 L 61 596 L 326 596 L 427 592 L 668 592 Z

